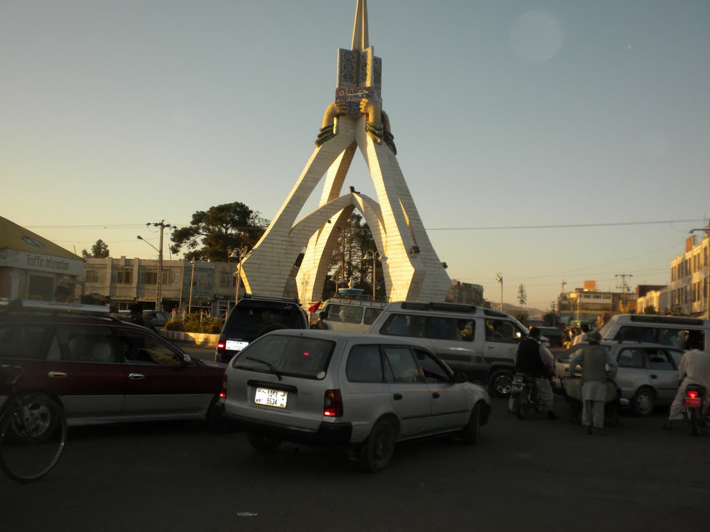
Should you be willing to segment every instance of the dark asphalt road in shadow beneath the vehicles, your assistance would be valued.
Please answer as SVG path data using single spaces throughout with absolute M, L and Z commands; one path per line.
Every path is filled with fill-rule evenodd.
M 199 423 L 72 428 L 34 484 L 0 477 L 0 529 L 19 531 L 661 531 L 706 528 L 710 435 L 623 416 L 601 436 L 520 421 L 494 400 L 478 445 L 398 445 L 361 472 L 336 450 L 257 453 Z

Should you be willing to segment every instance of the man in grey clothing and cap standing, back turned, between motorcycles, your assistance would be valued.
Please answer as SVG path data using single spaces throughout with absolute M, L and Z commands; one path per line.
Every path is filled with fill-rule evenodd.
M 581 348 L 579 353 L 569 362 L 569 375 L 574 375 L 577 365 L 581 362 L 581 397 L 583 401 L 581 423 L 584 432 L 591 434 L 601 431 L 604 426 L 604 403 L 606 402 L 606 372 L 607 365 L 613 375 L 618 366 L 608 350 L 599 345 L 599 331 L 587 333 L 589 346 Z

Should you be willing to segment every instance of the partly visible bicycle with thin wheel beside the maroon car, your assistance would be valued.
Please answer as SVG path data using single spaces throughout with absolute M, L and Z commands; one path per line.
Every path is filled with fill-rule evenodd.
M 0 406 L 0 469 L 16 482 L 32 482 L 47 475 L 59 461 L 67 439 L 62 407 L 51 399 L 23 397 L 17 391 L 21 366 L 0 365 L 9 372 Z

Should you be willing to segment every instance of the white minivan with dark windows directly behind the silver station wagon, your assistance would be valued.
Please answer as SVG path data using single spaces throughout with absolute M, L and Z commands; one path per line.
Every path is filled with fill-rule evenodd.
M 510 393 L 515 350 L 527 330 L 513 316 L 479 306 L 395 301 L 368 333 L 412 338 L 452 370 L 485 382 L 491 395 L 502 397 Z

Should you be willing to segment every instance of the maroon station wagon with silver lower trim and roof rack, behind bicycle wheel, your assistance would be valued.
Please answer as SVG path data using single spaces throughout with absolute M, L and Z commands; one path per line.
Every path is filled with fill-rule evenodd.
M 18 389 L 57 401 L 70 426 L 168 419 L 219 426 L 212 405 L 225 365 L 192 359 L 148 328 L 111 318 L 107 306 L 11 301 L 0 310 L 0 364 L 22 366 Z

